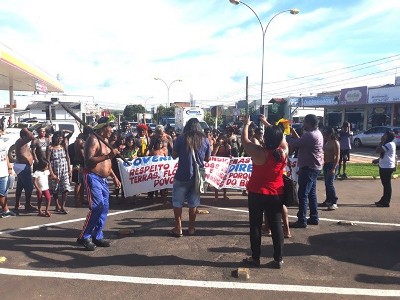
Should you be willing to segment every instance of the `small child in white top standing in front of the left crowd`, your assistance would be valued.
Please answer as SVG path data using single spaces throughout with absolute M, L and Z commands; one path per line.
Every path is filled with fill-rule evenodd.
M 46 160 L 40 160 L 37 164 L 37 169 L 33 173 L 33 185 L 36 188 L 36 195 L 38 197 L 38 216 L 50 217 L 49 207 L 51 202 L 49 190 L 49 163 Z M 46 199 L 46 210 L 42 211 L 42 197 Z

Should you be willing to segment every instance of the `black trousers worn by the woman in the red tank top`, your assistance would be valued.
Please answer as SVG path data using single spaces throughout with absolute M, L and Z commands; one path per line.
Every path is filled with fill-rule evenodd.
M 283 251 L 283 229 L 282 229 L 282 206 L 280 196 L 262 195 L 249 193 L 249 220 L 250 220 L 250 244 L 253 259 L 260 259 L 261 255 L 261 228 L 264 211 L 268 218 L 271 229 L 272 242 L 274 245 L 274 260 L 282 260 Z

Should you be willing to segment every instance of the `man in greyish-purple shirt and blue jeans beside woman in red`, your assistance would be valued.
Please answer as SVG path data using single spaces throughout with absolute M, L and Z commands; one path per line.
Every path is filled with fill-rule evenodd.
M 299 211 L 297 221 L 290 224 L 292 228 L 306 228 L 307 225 L 318 225 L 317 178 L 322 170 L 324 139 L 318 129 L 318 118 L 309 114 L 304 118 L 304 133 L 301 137 L 291 128 L 293 138 L 289 147 L 298 149 L 298 197 Z M 307 207 L 310 207 L 310 218 L 307 219 Z

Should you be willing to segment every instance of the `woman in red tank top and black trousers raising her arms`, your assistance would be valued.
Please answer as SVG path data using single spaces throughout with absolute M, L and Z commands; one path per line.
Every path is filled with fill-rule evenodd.
M 263 146 L 252 143 L 247 134 L 250 123 L 249 119 L 244 120 L 242 144 L 253 161 L 252 174 L 247 184 L 252 256 L 243 261 L 254 266 L 260 265 L 261 228 L 265 212 L 274 245 L 274 260 L 269 265 L 272 268 L 281 268 L 283 171 L 286 166 L 287 145 L 280 126 L 265 128 Z

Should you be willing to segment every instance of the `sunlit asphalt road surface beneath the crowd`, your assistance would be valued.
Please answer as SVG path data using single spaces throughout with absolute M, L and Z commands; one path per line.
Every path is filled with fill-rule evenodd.
M 209 214 L 197 217 L 196 235 L 173 238 L 170 204 L 137 198 L 112 201 L 106 226 L 110 248 L 87 252 L 75 243 L 87 208 L 68 215 L 0 219 L 1 299 L 361 299 L 400 297 L 400 186 L 393 203 L 377 208 L 377 180 L 337 181 L 339 209 L 320 209 L 319 226 L 292 229 L 284 267 L 266 267 L 272 241 L 263 237 L 262 266 L 250 279 L 232 277 L 249 255 L 246 199 L 203 197 Z M 320 202 L 323 182 L 318 182 Z M 13 204 L 14 195 L 10 195 Z M 72 199 L 70 199 L 72 200 Z M 72 202 L 72 201 L 71 201 Z M 296 209 L 290 208 L 291 220 Z M 187 220 L 187 211 L 185 210 Z M 338 225 L 338 221 L 355 225 Z M 187 226 L 187 222 L 185 222 Z M 119 236 L 120 229 L 133 229 Z M 0 258 L 1 261 L 1 258 Z

